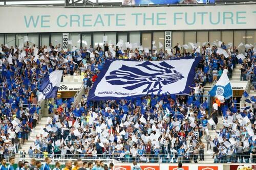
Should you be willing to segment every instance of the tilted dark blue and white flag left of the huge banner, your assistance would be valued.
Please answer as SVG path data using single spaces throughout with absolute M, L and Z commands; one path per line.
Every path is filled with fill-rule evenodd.
M 39 102 L 44 99 L 56 98 L 61 77 L 62 70 L 55 70 L 42 79 L 38 95 Z

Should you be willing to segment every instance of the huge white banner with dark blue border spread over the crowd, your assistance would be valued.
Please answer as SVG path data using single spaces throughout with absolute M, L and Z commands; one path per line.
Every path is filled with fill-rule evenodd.
M 89 100 L 127 99 L 146 94 L 188 94 L 201 58 L 164 61 L 106 59 Z

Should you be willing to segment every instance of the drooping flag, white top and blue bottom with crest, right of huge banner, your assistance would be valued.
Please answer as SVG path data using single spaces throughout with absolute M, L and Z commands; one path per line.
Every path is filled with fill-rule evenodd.
M 219 81 L 209 91 L 209 94 L 210 96 L 222 95 L 225 99 L 229 99 L 233 95 L 231 83 L 225 72 L 223 72 Z

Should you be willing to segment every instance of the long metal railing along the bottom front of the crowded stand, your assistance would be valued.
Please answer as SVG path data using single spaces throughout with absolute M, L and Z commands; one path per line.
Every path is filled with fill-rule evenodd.
M 121 155 L 121 156 L 120 156 Z M 2 157 L 9 158 L 10 154 L 1 154 Z M 229 155 L 219 155 L 219 154 L 185 154 L 185 155 L 175 155 L 175 154 L 155 154 L 155 155 L 125 155 L 123 154 L 101 154 L 101 155 L 95 155 L 92 156 L 91 154 L 83 154 L 83 153 L 77 153 L 75 154 L 22 154 L 21 152 L 19 154 L 16 154 L 18 157 L 18 160 L 24 160 L 28 161 L 32 158 L 38 159 L 38 160 L 44 160 L 46 156 L 50 157 L 53 162 L 54 161 L 65 161 L 67 159 L 114 159 L 117 162 L 124 162 L 124 163 L 131 163 L 133 161 L 137 162 L 149 162 L 149 163 L 176 163 L 176 162 L 182 162 L 182 163 L 251 163 L 256 162 L 256 158 L 252 158 L 252 155 L 241 155 L 241 154 L 229 154 Z M 8 159 L 9 160 L 9 159 Z

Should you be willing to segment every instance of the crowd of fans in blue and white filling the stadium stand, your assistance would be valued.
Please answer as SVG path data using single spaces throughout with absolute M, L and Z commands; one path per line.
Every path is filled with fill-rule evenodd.
M 60 44 L 39 48 L 29 43 L 24 47 L 2 45 L 0 155 L 13 156 L 28 140 L 31 129 L 38 123 L 40 82 L 54 69 L 63 70 L 63 76 L 83 75 L 88 92 L 105 58 L 154 61 L 191 56 L 202 57 L 202 60 L 195 70 L 195 82 L 189 95 L 160 93 L 100 102 L 88 102 L 86 95 L 81 102 L 73 98 L 55 99 L 54 104 L 48 104 L 47 125 L 34 139 L 34 146 L 22 155 L 27 153 L 31 158 L 114 158 L 125 162 L 197 162 L 204 160 L 204 139 L 207 153 L 214 155 L 216 162 L 255 162 L 256 110 L 238 109 L 236 98 L 224 103 L 215 99 L 212 105 L 203 96 L 207 82 L 217 81 L 223 71 L 231 77 L 237 64 L 243 66 L 241 73 L 246 75 L 245 80 L 253 79 L 255 49 L 246 49 L 242 61 L 237 58 L 239 54 L 236 47 L 227 48 L 224 42 L 219 48 L 217 44 L 205 44 L 200 49 L 193 44 L 191 52 L 177 43 L 169 53 L 139 48 L 122 50 L 108 44 L 95 49 L 92 46 L 89 49 L 72 47 L 67 52 L 61 50 Z M 254 98 L 251 102 L 254 103 Z M 211 105 L 213 111 L 208 112 Z M 224 126 L 220 129 L 210 121 L 212 116 L 218 124 L 218 114 L 224 117 Z M 216 138 L 209 135 L 209 125 L 217 131 Z

